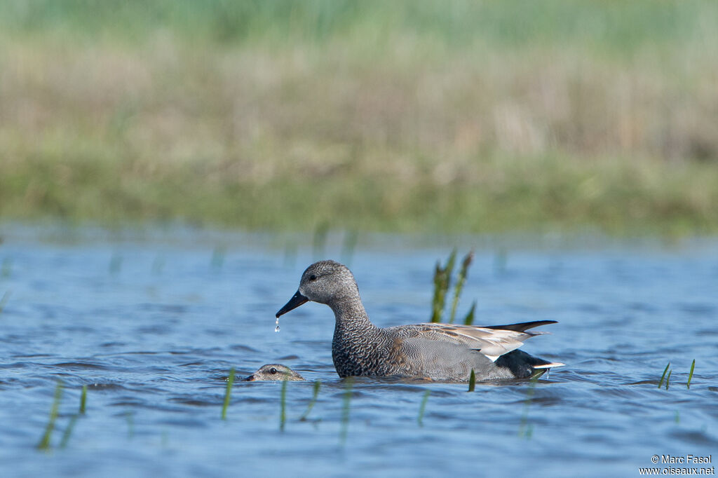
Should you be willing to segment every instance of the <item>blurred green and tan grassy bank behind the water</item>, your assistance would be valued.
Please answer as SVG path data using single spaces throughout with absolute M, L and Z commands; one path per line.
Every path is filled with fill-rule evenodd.
M 0 219 L 718 229 L 718 2 L 5 0 Z

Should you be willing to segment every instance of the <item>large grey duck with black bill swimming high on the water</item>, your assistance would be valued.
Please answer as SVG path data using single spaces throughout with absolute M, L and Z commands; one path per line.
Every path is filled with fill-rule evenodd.
M 541 375 L 564 365 L 517 350 L 523 341 L 546 332 L 528 329 L 554 320 L 477 327 L 411 324 L 379 328 L 369 320 L 354 276 L 335 261 L 313 263 L 302 274 L 299 290 L 276 317 L 307 301 L 327 304 L 336 324 L 332 359 L 340 377 L 399 377 L 465 382 L 511 380 Z

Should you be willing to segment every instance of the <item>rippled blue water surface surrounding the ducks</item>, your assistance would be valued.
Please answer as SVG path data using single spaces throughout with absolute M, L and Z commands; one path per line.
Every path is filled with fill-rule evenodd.
M 535 385 L 467 393 L 464 384 L 369 378 L 348 391 L 332 365 L 325 306 L 297 309 L 272 332 L 316 240 L 85 231 L 39 241 L 36 232 L 6 231 L 0 245 L 2 476 L 475 476 L 530 466 L 554 477 L 576 476 L 579 465 L 633 476 L 653 454 L 718 449 L 715 242 L 537 248 L 461 238 L 476 256 L 459 313 L 476 300 L 477 324 L 558 320 L 524 348 L 567 364 Z M 348 256 L 345 242 L 323 235 L 323 253 Z M 353 243 L 373 321 L 428 320 L 434 263 L 454 244 Z M 246 376 L 276 362 L 307 378 L 286 386 L 284 429 L 281 383 L 237 382 L 222 421 L 230 367 Z M 668 362 L 670 388 L 659 389 Z M 57 380 L 52 452 L 41 453 Z

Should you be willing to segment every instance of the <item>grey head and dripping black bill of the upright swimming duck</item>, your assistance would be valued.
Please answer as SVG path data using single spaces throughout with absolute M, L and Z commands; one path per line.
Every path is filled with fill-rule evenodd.
M 279 309 L 276 317 L 296 309 L 307 301 L 331 304 L 332 301 L 343 296 L 358 294 L 357 283 L 346 266 L 336 261 L 315 262 L 302 274 L 297 294 Z

